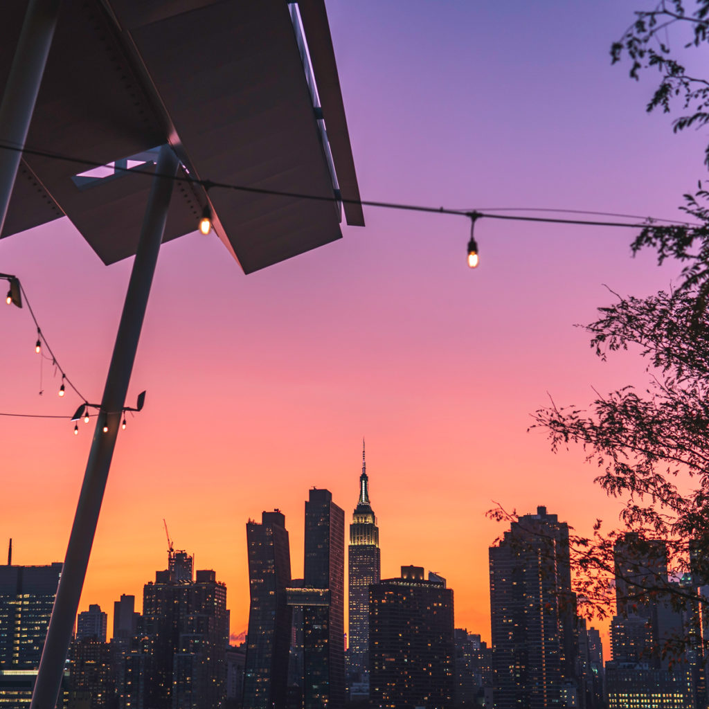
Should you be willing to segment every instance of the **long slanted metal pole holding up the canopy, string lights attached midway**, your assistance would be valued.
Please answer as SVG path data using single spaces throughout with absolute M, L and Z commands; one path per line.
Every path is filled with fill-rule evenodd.
M 128 292 L 125 294 L 116 345 L 113 347 L 111 366 L 108 367 L 104 398 L 101 399 L 101 412 L 96 421 L 94 440 L 91 442 L 89 460 L 86 463 L 84 484 L 79 494 L 77 512 L 74 515 L 72 533 L 57 588 L 57 597 L 52 608 L 52 618 L 30 709 L 55 709 L 59 697 L 74 619 L 77 617 L 79 597 L 84 586 L 86 566 L 89 564 L 91 545 L 94 543 L 108 470 L 111 467 L 113 448 L 116 446 L 116 435 L 121 425 L 125 393 L 128 391 L 140 328 L 143 326 L 147 298 L 155 273 L 157 252 L 160 250 L 167 220 L 167 208 L 174 182 L 169 178 L 177 173 L 178 164 L 172 148 L 164 145 L 157 159 L 156 177 L 143 218 L 143 228 L 140 231 L 140 242 L 138 252 L 135 254 L 133 271 L 130 274 Z M 160 175 L 165 177 L 157 177 Z M 106 433 L 104 433 L 104 426 L 108 426 Z

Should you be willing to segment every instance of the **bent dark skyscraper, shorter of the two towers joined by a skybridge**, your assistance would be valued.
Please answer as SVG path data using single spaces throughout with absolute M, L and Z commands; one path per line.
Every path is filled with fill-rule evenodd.
M 286 518 L 264 512 L 261 523 L 249 520 L 249 630 L 244 675 L 245 709 L 284 709 L 291 642 L 291 557 Z

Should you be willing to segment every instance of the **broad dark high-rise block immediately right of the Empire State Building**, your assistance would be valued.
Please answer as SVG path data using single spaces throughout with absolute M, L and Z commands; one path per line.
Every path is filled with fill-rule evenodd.
M 372 707 L 448 709 L 454 700 L 453 591 L 420 566 L 369 586 Z

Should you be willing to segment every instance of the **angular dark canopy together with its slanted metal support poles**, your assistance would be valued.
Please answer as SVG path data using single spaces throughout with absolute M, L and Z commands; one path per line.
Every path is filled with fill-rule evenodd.
M 135 255 L 82 406 L 99 413 L 31 703 L 51 709 L 161 243 L 208 211 L 251 273 L 364 215 L 323 0 L 4 0 L 0 18 L 0 238 L 67 216 L 104 263 Z

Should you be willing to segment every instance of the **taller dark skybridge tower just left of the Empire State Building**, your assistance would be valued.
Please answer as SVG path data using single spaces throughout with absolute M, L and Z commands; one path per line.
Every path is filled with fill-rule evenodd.
M 337 709 L 345 705 L 345 512 L 329 490 L 313 488 L 306 501 L 303 585 L 304 706 Z

